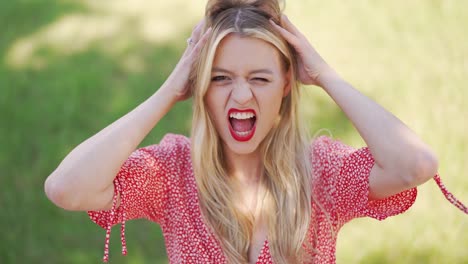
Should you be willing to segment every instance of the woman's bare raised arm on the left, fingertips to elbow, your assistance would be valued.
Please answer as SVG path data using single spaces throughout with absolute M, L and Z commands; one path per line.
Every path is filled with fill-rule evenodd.
M 210 30 L 204 21 L 162 87 L 134 110 L 73 149 L 45 181 L 47 197 L 67 210 L 105 210 L 112 206 L 113 180 L 130 154 L 179 100 L 190 96 L 190 69 Z M 201 37 L 201 38 L 200 38 Z

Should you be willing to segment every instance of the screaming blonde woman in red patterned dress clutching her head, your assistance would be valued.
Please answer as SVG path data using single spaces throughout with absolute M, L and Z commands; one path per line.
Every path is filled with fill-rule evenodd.
M 310 144 L 300 84 L 324 89 L 367 147 L 327 136 Z M 191 96 L 190 138 L 168 134 L 135 150 Z M 146 218 L 161 226 L 171 263 L 334 263 L 343 224 L 404 212 L 437 166 L 430 147 L 343 80 L 277 1 L 215 0 L 162 87 L 77 146 L 45 191 L 107 230 L 104 261 L 111 226 L 122 224 L 126 254 L 125 221 Z

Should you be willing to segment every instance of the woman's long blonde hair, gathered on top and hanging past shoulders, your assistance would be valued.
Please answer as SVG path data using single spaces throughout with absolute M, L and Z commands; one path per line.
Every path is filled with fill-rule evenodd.
M 192 161 L 201 211 L 229 263 L 248 262 L 253 216 L 242 213 L 233 201 L 233 179 L 228 177 L 221 139 L 205 105 L 216 49 L 228 34 L 271 43 L 280 53 L 285 72 L 292 73 L 291 91 L 282 100 L 277 125 L 260 144 L 264 166 L 261 184 L 266 190 L 263 212 L 275 262 L 303 261 L 311 218 L 311 168 L 308 139 L 299 118 L 296 56 L 269 23 L 270 18 L 280 23 L 277 0 L 208 1 L 206 28 L 211 26 L 213 33 L 191 74 Z

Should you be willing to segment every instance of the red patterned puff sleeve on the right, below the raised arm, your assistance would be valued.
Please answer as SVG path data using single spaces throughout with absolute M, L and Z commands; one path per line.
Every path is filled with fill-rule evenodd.
M 368 147 L 354 149 L 321 136 L 312 144 L 311 156 L 313 193 L 342 224 L 365 216 L 383 220 L 405 212 L 416 200 L 416 188 L 369 199 L 369 175 L 375 162 Z

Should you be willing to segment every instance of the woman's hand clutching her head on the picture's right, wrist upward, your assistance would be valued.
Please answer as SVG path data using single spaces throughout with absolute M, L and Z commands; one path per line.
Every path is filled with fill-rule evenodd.
M 335 74 L 334 70 L 323 60 L 307 38 L 289 21 L 286 15 L 281 17 L 282 27 L 273 20 L 270 20 L 270 22 L 299 55 L 297 59 L 300 82 L 306 85 L 320 86 L 320 77 Z

